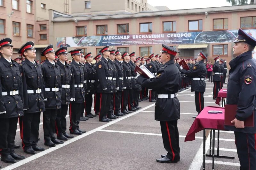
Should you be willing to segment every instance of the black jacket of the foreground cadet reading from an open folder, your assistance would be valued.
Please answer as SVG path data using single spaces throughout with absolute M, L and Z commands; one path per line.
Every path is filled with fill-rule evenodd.
M 180 89 L 180 71 L 173 60 L 166 62 L 154 78 L 139 76 L 137 82 L 158 94 L 175 94 Z M 157 99 L 155 105 L 155 120 L 174 121 L 180 119 L 180 102 L 178 98 Z

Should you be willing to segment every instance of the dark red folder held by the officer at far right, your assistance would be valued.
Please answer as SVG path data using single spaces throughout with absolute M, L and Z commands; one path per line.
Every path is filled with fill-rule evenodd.
M 235 126 L 235 123 L 230 123 L 236 118 L 237 105 L 225 105 L 224 125 Z M 245 127 L 254 127 L 254 113 L 244 121 Z

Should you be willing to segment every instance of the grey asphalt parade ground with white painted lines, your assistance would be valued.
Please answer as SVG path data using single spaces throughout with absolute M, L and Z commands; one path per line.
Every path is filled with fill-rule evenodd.
M 226 80 L 227 82 L 227 80 Z M 225 88 L 227 84 L 224 84 Z M 217 106 L 212 100 L 213 83 L 206 81 L 204 106 Z M 195 95 L 190 88 L 177 94 L 180 100 L 180 161 L 178 163 L 158 163 L 157 158 L 166 154 L 163 146 L 160 122 L 154 120 L 155 103 L 148 100 L 140 102 L 140 110 L 119 117 L 108 123 L 99 122 L 98 116 L 80 122 L 80 129 L 87 132 L 58 144 L 56 147 L 44 146 L 43 118 L 39 128 L 39 146 L 46 148 L 43 152 L 29 155 L 23 150 L 15 152 L 26 156 L 26 159 L 15 164 L 4 163 L 2 169 L 36 170 L 36 169 L 203 169 L 203 131 L 196 133 L 195 141 L 184 142 L 185 136 L 195 119 Z M 92 110 L 94 113 L 94 111 Z M 69 126 L 69 117 L 67 116 Z M 68 127 L 67 127 L 68 129 Z M 216 133 L 217 137 L 217 133 Z M 215 158 L 215 169 L 238 170 L 240 167 L 236 153 L 233 132 L 220 132 L 220 155 L 232 156 L 235 159 Z M 217 139 L 216 142 L 217 143 Z M 21 144 L 20 129 L 17 127 L 15 144 Z M 209 153 L 209 138 L 206 140 L 206 151 Z M 216 146 L 216 145 L 215 145 Z M 217 147 L 217 146 L 216 146 Z M 215 148 L 217 150 L 217 148 Z M 216 152 L 216 151 L 215 151 Z M 212 169 L 212 158 L 206 157 L 205 169 Z

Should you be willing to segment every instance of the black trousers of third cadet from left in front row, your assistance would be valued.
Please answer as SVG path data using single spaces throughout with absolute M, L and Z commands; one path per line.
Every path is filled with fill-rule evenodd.
M 54 132 L 57 112 L 58 109 L 45 109 L 43 112 L 44 142 L 56 139 Z

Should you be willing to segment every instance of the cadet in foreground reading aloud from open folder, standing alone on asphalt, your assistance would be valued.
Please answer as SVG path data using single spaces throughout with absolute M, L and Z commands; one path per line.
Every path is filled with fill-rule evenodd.
M 155 120 L 160 121 L 164 148 L 167 155 L 156 159 L 157 162 L 178 162 L 180 160 L 179 131 L 177 120 L 180 119 L 180 102 L 176 93 L 180 88 L 180 71 L 174 65 L 174 57 L 179 51 L 162 44 L 161 61 L 165 64 L 157 71 L 156 77 L 139 76 L 137 82 L 149 89 L 156 90 L 158 98 L 155 106 Z M 172 141 L 172 142 L 171 142 Z

